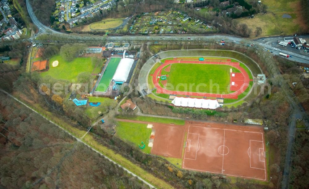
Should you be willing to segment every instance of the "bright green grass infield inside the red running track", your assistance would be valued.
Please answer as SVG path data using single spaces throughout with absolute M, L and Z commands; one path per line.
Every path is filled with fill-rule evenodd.
M 169 75 L 167 77 L 167 90 L 215 94 L 231 93 L 229 91 L 230 70 L 240 72 L 230 65 L 217 64 L 175 63 L 171 64 L 170 72 L 166 72 L 164 69 L 162 69 L 161 74 Z

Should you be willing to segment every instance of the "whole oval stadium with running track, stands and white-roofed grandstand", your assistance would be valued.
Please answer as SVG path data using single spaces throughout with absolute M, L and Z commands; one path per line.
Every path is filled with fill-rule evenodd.
M 141 93 L 174 106 L 216 109 L 224 103 L 245 102 L 253 86 L 265 83 L 258 65 L 239 61 L 237 54 L 220 57 L 205 52 L 176 50 L 154 55 L 142 68 L 139 80 L 146 80 L 147 85 L 140 86 Z

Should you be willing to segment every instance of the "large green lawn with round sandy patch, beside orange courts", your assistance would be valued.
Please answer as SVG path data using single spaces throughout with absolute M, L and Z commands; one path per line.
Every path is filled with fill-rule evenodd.
M 53 61 L 59 61 L 57 67 L 53 67 Z M 77 57 L 73 61 L 67 62 L 60 55 L 55 55 L 49 59 L 49 70 L 42 72 L 42 77 L 53 77 L 57 79 L 75 80 L 77 82 L 77 75 L 81 72 L 92 73 L 94 66 L 91 62 L 91 57 Z

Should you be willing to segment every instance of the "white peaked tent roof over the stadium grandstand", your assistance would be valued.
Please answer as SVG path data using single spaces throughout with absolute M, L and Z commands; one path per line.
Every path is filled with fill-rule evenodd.
M 216 109 L 220 107 L 217 100 L 210 99 L 193 99 L 184 97 L 175 97 L 172 104 L 180 107 L 194 107 L 194 108 L 204 108 L 204 109 Z

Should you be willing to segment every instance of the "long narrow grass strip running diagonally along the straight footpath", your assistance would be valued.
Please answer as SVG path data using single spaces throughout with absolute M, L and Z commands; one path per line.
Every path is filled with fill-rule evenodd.
M 18 98 L 18 96 L 16 97 Z M 23 102 L 25 103 L 25 102 Z M 66 131 L 70 132 L 74 136 L 80 138 L 85 134 L 86 131 L 81 131 L 77 128 L 74 128 L 70 124 L 66 124 L 63 120 L 60 118 L 57 118 L 57 116 L 53 115 L 51 112 L 44 110 L 39 106 L 39 104 L 36 104 L 33 106 L 32 104 L 27 104 L 29 107 L 32 107 L 36 111 L 38 111 L 40 114 L 44 115 L 49 120 L 53 121 L 54 123 L 58 124 L 61 128 L 64 128 Z M 155 177 L 154 175 L 148 173 L 146 170 L 143 170 L 141 167 L 135 165 L 134 163 L 130 162 L 125 157 L 121 156 L 118 153 L 115 153 L 111 149 L 108 149 L 107 147 L 99 144 L 97 141 L 95 141 L 93 135 L 89 133 L 83 138 L 83 142 L 85 142 L 87 145 L 90 145 L 92 148 L 98 150 L 100 153 L 104 154 L 105 156 L 109 157 L 113 161 L 119 163 L 121 166 L 124 166 L 134 174 L 138 175 L 139 177 L 143 178 L 147 182 L 155 185 L 155 187 L 158 188 L 172 188 L 171 185 L 163 181 L 162 179 L 159 179 Z

